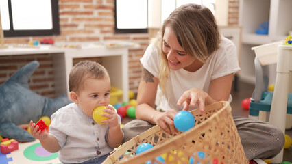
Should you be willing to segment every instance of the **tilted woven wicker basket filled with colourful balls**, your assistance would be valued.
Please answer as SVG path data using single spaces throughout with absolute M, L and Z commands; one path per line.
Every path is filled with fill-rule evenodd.
M 204 115 L 199 109 L 191 111 L 195 117 L 195 126 L 184 133 L 171 135 L 160 126 L 137 135 L 117 148 L 103 164 L 112 163 L 188 163 L 192 156 L 194 163 L 249 163 L 241 139 L 232 118 L 229 102 L 221 101 L 206 106 Z M 136 155 L 136 148 L 141 143 L 154 146 L 150 150 Z M 201 159 L 195 152 L 204 152 Z M 163 156 L 165 162 L 158 161 Z

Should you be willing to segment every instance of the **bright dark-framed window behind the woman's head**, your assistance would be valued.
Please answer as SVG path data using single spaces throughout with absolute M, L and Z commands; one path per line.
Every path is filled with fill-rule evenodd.
M 116 0 L 115 33 L 147 33 L 159 28 L 165 18 L 180 5 L 205 5 L 215 14 L 215 0 Z

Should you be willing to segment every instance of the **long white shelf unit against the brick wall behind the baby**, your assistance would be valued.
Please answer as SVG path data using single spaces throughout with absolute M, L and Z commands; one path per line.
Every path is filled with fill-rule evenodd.
M 0 56 L 51 54 L 53 57 L 53 74 L 56 95 L 69 97 L 69 73 L 73 59 L 101 57 L 101 63 L 110 74 L 112 85 L 123 91 L 123 102 L 129 101 L 128 49 L 139 47 L 139 44 L 112 42 L 82 42 L 38 44 L 37 46 L 8 45 L 0 49 Z

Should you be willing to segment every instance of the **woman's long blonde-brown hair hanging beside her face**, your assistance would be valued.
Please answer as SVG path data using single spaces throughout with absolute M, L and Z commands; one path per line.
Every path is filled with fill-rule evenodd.
M 160 38 L 154 44 L 160 50 L 159 85 L 165 94 L 165 83 L 169 76 L 167 55 L 162 51 L 165 28 L 171 28 L 180 46 L 189 55 L 205 63 L 206 59 L 219 49 L 220 35 L 212 12 L 201 5 L 186 4 L 176 8 L 164 21 Z

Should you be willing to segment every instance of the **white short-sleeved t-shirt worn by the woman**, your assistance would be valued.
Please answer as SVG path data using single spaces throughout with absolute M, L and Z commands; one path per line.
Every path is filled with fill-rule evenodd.
M 160 97 L 161 90 L 158 85 L 155 102 L 156 109 L 162 111 L 170 109 L 182 110 L 183 106 L 178 107 L 176 103 L 180 96 L 191 88 L 199 88 L 208 93 L 210 82 L 213 79 L 240 70 L 236 52 L 234 43 L 221 36 L 220 48 L 208 57 L 202 68 L 199 68 L 196 72 L 188 72 L 184 69 L 170 70 L 169 79 L 166 82 L 167 96 Z M 146 70 L 153 74 L 154 77 L 159 78 L 159 54 L 154 44 L 150 44 L 147 47 L 140 61 Z M 189 110 L 195 108 L 190 107 Z

